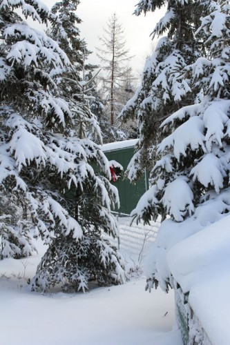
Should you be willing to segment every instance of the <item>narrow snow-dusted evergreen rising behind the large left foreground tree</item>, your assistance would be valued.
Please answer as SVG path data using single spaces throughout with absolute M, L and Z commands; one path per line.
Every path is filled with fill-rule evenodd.
M 81 19 L 76 14 L 78 5 L 78 0 L 64 0 L 55 3 L 51 12 L 58 15 L 61 25 L 53 23 L 48 34 L 59 43 L 59 47 L 66 52 L 73 66 L 72 70 L 65 70 L 61 77 L 57 75 L 57 85 L 61 97 L 68 101 L 71 112 L 74 114 L 77 135 L 83 138 L 90 132 L 91 139 L 98 137 L 97 140 L 101 144 L 102 137 L 99 135 L 97 117 L 90 111 L 89 104 L 95 76 L 93 77 L 91 74 L 90 78 L 87 76 L 87 73 L 97 66 L 86 64 L 90 52 L 87 50 L 84 39 L 79 36 L 77 25 L 81 23 Z M 54 70 L 54 77 L 55 72 Z

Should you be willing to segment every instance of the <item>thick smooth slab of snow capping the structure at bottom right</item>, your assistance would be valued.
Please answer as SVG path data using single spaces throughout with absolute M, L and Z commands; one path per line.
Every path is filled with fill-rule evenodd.
M 230 216 L 172 246 L 167 263 L 211 344 L 230 344 Z

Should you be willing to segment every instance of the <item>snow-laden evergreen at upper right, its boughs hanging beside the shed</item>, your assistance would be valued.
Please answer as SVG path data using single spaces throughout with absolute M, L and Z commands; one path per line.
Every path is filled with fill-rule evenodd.
M 166 13 L 152 35 L 153 38 L 166 36 L 158 41 L 153 55 L 146 59 L 141 85 L 119 115 L 122 121 L 137 118 L 138 123 L 137 152 L 128 166 L 128 178 L 132 181 L 144 174 L 145 168 L 151 171 L 155 164 L 156 145 L 162 139 L 161 122 L 181 106 L 193 103 L 194 99 L 189 80 L 180 74 L 199 56 L 194 32 L 202 8 L 193 0 L 141 0 L 135 14 L 146 14 L 165 5 Z

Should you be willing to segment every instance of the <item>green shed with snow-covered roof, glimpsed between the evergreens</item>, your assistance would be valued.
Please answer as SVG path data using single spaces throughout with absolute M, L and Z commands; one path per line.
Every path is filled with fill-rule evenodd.
M 137 206 L 140 197 L 148 189 L 147 174 L 135 184 L 131 184 L 128 179 L 124 179 L 124 171 L 133 157 L 135 144 L 137 144 L 137 139 L 117 141 L 102 146 L 102 150 L 108 158 L 108 161 L 116 161 L 123 167 L 123 171 L 120 174 L 121 177 L 117 181 L 113 181 L 112 179 L 111 183 L 117 187 L 119 193 L 120 208 L 115 211 L 126 215 L 129 215 L 135 206 Z

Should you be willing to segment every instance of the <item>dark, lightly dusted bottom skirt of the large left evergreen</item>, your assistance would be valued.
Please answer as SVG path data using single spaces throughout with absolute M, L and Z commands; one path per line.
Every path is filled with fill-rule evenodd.
M 117 285 L 126 281 L 123 268 L 124 259 L 100 235 L 88 233 L 78 241 L 71 236 L 57 237 L 41 259 L 32 290 L 39 287 L 46 291 L 59 282 L 64 290 L 83 292 L 90 281 L 99 286 Z

